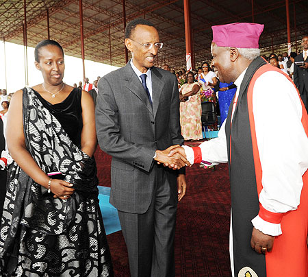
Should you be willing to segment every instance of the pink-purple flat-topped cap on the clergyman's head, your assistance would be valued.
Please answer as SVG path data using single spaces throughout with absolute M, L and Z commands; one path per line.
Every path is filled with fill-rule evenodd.
M 263 24 L 231 23 L 211 26 L 213 43 L 220 47 L 259 48 L 259 37 Z

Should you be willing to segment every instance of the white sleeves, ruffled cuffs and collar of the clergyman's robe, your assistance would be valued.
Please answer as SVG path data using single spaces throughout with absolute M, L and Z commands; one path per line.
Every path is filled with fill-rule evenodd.
M 238 91 L 243 77 L 242 73 L 235 81 Z M 262 74 L 253 88 L 253 115 L 262 167 L 259 202 L 273 213 L 296 210 L 302 176 L 308 168 L 308 138 L 301 123 L 302 106 L 294 85 L 276 71 Z M 213 164 L 227 162 L 225 121 L 218 138 L 202 143 L 200 148 L 202 160 Z M 188 161 L 193 163 L 194 152 L 187 146 L 184 149 Z M 282 233 L 280 224 L 264 221 L 258 215 L 252 223 L 265 234 Z

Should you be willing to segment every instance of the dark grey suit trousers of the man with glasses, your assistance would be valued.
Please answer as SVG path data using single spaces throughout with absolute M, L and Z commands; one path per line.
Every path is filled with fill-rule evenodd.
M 146 213 L 118 210 L 132 277 L 175 276 L 177 185 L 170 184 L 164 169 L 159 171 Z

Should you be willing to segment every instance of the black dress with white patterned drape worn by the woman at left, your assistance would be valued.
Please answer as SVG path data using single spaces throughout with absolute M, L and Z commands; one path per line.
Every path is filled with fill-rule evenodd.
M 76 99 L 78 104 L 81 91 L 72 91 L 55 108 L 65 110 L 65 101 L 72 106 Z M 81 113 L 81 107 L 75 110 Z M 66 111 L 71 115 L 72 110 Z M 76 146 L 81 117 L 73 115 L 80 127 L 77 140 L 68 136 L 62 119 L 56 117 L 51 104 L 24 88 L 27 149 L 42 171 L 61 171 L 75 192 L 68 200 L 53 198 L 16 162 L 10 165 L 0 228 L 0 276 L 113 276 L 97 197 L 96 164 Z

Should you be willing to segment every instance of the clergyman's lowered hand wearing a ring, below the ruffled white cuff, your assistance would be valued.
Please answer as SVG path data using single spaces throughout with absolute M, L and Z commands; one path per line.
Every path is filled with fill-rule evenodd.
M 271 252 L 274 245 L 275 237 L 253 228 L 253 234 L 251 234 L 251 247 L 255 252 L 261 254 L 266 254 L 266 252 Z

